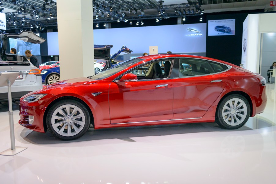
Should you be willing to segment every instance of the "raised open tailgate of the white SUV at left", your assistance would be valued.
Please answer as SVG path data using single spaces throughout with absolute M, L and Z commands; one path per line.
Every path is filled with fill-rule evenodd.
M 37 36 L 32 31 L 22 31 L 20 33 L 1 34 L 0 35 L 1 53 L 7 50 L 7 42 L 9 38 L 20 39 L 20 40 L 23 40 L 24 42 L 30 42 L 30 43 L 43 43 L 46 41 L 46 39 L 40 36 Z

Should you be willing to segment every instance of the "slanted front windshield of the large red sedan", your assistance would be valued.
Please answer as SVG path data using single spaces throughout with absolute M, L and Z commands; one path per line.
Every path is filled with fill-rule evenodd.
M 110 77 L 110 76 L 114 75 L 115 73 L 118 73 L 119 71 L 124 70 L 124 69 L 128 68 L 129 66 L 132 66 L 133 64 L 140 62 L 142 60 L 143 59 L 137 59 L 137 58 L 127 60 L 125 62 L 122 62 L 122 63 L 110 68 L 110 69 L 104 70 L 101 73 L 91 76 L 89 78 L 97 79 L 97 80 L 105 79 L 105 78 Z

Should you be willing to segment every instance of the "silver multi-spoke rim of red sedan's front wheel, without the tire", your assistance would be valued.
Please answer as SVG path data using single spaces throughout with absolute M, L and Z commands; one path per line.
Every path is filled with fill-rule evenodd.
M 58 134 L 66 137 L 74 136 L 84 128 L 84 112 L 72 104 L 59 106 L 51 117 L 51 124 Z

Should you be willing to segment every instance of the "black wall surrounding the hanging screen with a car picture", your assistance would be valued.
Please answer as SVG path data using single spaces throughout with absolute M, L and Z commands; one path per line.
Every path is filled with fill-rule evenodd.
M 264 10 L 248 11 L 246 13 L 228 12 L 231 14 L 209 14 L 206 17 L 207 31 L 209 20 L 236 19 L 235 35 L 229 36 L 207 36 L 206 57 L 220 59 L 237 66 L 241 64 L 242 28 L 243 22 L 248 14 L 262 13 Z

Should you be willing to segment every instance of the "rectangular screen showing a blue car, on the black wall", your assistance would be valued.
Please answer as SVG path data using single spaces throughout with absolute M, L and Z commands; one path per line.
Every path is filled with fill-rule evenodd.
M 235 35 L 235 19 L 208 21 L 208 36 Z

